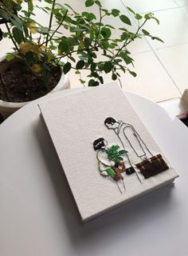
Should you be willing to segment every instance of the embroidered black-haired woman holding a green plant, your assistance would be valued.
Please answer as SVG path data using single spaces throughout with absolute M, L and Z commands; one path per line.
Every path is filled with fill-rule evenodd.
M 116 182 L 122 194 L 119 181 L 122 181 L 123 190 L 125 191 L 122 173 L 126 170 L 122 155 L 127 151 L 119 150 L 119 146 L 117 145 L 107 146 L 108 142 L 104 138 L 98 138 L 93 142 L 94 150 L 96 150 L 98 169 L 101 175 L 110 177 Z

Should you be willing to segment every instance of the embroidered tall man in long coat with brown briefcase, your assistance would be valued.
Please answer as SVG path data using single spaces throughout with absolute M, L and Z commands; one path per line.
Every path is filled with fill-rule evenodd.
M 131 124 L 123 121 L 117 122 L 114 118 L 106 118 L 104 124 L 108 129 L 114 130 L 123 149 L 128 150 L 126 156 L 131 170 L 134 169 L 130 160 L 131 156 L 134 156 L 134 159 L 137 159 L 135 166 L 139 168 L 144 178 L 149 178 L 169 169 L 160 154 L 154 156 L 151 153 L 151 150 L 149 150 L 145 142 L 143 142 L 143 139 Z M 139 162 L 140 160 L 141 162 Z M 136 171 L 132 173 L 135 173 L 137 178 L 139 178 Z M 139 182 L 141 182 L 140 179 Z

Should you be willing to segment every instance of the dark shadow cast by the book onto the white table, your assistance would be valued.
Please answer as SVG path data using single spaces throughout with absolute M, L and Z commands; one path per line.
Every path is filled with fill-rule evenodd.
M 35 132 L 61 206 L 62 222 L 66 223 L 69 239 L 76 250 L 81 248 L 86 252 L 88 250 L 89 255 L 95 255 L 95 252 L 92 254 L 91 251 L 89 253 L 89 250 L 96 242 L 97 246 L 102 247 L 110 242 L 108 239 L 116 240 L 121 238 L 121 235 L 132 234 L 133 230 L 136 233 L 137 230 L 143 229 L 146 223 L 152 223 L 155 219 L 162 217 L 163 212 L 169 208 L 174 186 L 166 186 L 166 188 L 139 198 L 127 206 L 121 206 L 90 222 L 81 223 L 69 184 L 45 124 L 41 120 L 37 123 Z M 76 166 L 72 167 L 76 168 Z

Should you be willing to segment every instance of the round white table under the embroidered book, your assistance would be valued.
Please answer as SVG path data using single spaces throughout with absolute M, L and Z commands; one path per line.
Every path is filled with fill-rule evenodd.
M 181 175 L 176 185 L 83 225 L 38 101 L 30 103 L 0 126 L 0 255 L 187 256 L 188 128 L 147 99 L 127 98 Z

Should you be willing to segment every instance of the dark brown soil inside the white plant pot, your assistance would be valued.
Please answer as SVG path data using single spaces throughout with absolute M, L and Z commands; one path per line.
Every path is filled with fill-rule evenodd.
M 21 62 L 14 62 L 10 68 L 2 74 L 0 79 L 0 99 L 6 102 L 28 102 L 40 98 L 53 90 L 61 78 L 61 68 L 53 67 L 49 74 L 49 86 L 44 84 L 29 72 L 27 67 Z M 6 87 L 6 98 L 3 84 Z

